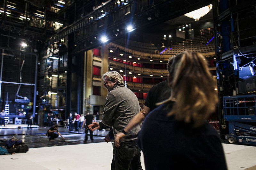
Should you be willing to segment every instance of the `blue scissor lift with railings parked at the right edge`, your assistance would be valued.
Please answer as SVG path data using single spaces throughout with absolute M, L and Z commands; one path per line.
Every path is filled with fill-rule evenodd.
M 229 143 L 256 145 L 256 95 L 224 96 L 223 116 Z

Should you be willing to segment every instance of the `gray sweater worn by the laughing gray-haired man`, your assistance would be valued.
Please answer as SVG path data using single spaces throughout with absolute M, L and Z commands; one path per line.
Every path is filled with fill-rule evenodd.
M 108 92 L 102 122 L 104 125 L 112 126 L 114 136 L 120 132 L 141 110 L 138 98 L 124 85 L 117 85 Z M 135 127 L 126 134 L 124 141 L 137 139 L 141 125 Z

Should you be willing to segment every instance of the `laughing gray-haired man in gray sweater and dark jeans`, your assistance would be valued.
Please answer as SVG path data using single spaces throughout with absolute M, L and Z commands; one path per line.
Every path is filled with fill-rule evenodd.
M 123 128 L 140 112 L 140 104 L 136 95 L 124 86 L 123 77 L 116 71 L 103 74 L 104 87 L 108 89 L 105 108 L 102 114 L 102 123 L 113 128 L 114 136 L 123 132 Z M 102 123 L 94 124 L 91 129 L 102 129 Z M 137 146 L 137 136 L 141 129 L 133 128 L 126 134 L 120 147 L 114 146 L 115 169 L 141 170 L 140 148 Z M 97 127 L 96 127 L 97 126 Z

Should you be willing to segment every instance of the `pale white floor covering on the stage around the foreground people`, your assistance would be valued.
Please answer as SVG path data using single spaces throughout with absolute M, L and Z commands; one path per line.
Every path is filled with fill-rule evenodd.
M 256 147 L 223 144 L 229 170 L 256 169 Z M 1 170 L 110 170 L 111 143 L 31 148 L 27 153 L 0 155 Z M 143 169 L 144 160 L 141 157 Z M 252 167 L 255 166 L 255 167 Z

